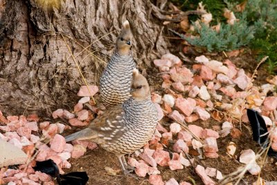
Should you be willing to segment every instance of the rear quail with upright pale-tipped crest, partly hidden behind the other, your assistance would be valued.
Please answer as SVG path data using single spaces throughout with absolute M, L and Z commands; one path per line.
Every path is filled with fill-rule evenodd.
M 123 103 L 130 97 L 132 71 L 136 68 L 131 49 L 132 33 L 129 21 L 116 40 L 116 50 L 100 78 L 100 96 L 106 108 Z

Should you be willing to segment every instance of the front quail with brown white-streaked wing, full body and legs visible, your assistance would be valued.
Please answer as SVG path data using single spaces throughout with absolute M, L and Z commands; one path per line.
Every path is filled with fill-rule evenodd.
M 122 105 L 108 109 L 94 119 L 84 130 L 66 136 L 66 141 L 91 140 L 118 157 L 126 173 L 125 154 L 143 147 L 152 138 L 157 127 L 157 109 L 152 103 L 147 80 L 133 70 L 131 94 Z

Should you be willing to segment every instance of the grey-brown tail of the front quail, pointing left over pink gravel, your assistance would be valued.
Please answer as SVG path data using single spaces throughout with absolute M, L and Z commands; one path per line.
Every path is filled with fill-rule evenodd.
M 75 139 L 77 140 L 89 140 L 89 139 L 96 139 L 98 134 L 91 130 L 90 128 L 86 128 L 84 130 L 80 130 L 79 132 L 75 132 L 73 134 L 70 134 L 69 136 L 65 137 L 65 141 L 73 141 Z

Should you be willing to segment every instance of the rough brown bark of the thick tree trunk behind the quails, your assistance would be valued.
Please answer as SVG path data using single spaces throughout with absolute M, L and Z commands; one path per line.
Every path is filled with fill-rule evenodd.
M 167 51 L 152 7 L 149 0 L 0 0 L 0 110 L 72 109 L 84 83 L 70 51 L 87 82 L 98 84 L 125 19 L 134 58 L 149 66 Z

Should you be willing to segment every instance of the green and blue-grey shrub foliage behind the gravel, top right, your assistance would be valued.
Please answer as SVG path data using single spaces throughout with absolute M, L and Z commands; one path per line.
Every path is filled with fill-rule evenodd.
M 181 4 L 182 10 L 195 10 L 201 0 L 172 0 Z M 269 56 L 269 72 L 277 67 L 277 0 L 248 0 L 242 12 L 235 10 L 235 5 L 243 0 L 206 0 L 203 5 L 213 15 L 213 24 L 221 23 L 220 33 L 202 24 L 202 29 L 195 26 L 197 37 L 183 37 L 194 46 L 206 47 L 208 51 L 230 51 L 249 46 L 258 58 Z M 233 26 L 222 18 L 223 9 L 228 8 L 239 19 Z M 194 19 L 190 19 L 194 21 Z

